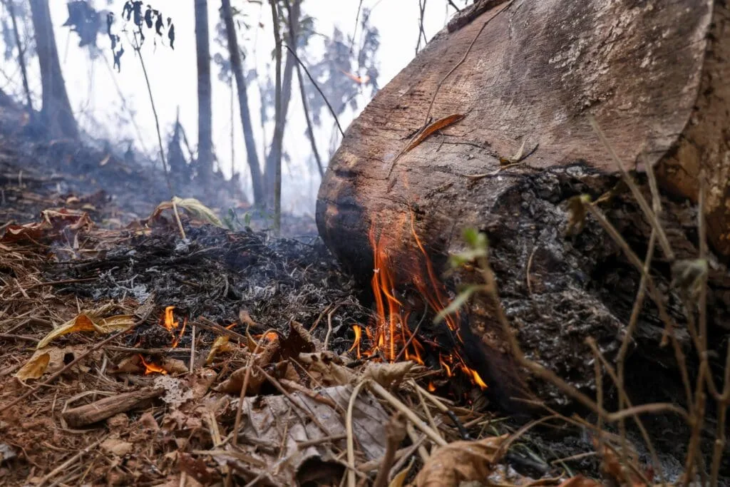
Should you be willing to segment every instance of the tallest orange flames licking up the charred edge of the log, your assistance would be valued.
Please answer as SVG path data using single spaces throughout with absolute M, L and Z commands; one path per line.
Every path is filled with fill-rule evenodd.
M 365 329 L 365 334 L 371 343 L 371 348 L 370 350 L 366 350 L 364 355 L 366 357 L 372 357 L 380 353 L 385 360 L 390 362 L 405 358 L 406 360 L 415 361 L 418 364 L 424 364 L 423 355 L 426 353 L 426 349 L 422 342 L 437 349 L 440 346 L 438 343 L 429 340 L 422 339 L 419 341 L 419 337 L 413 336 L 408 326 L 409 310 L 405 309 L 403 302 L 396 295 L 396 279 L 392 270 L 394 266 L 391 262 L 391 256 L 388 254 L 388 242 L 401 241 L 402 236 L 400 235 L 400 230 L 406 225 L 405 215 L 399 223 L 396 226 L 395 235 L 392 235 L 391 238 L 386 239 L 383 234 L 380 237 L 376 237 L 374 226 L 371 227 L 369 232 L 369 240 L 373 249 L 374 272 L 371 285 L 375 298 L 375 317 L 374 322 Z M 449 302 L 444 286 L 436 277 L 431 259 L 428 253 L 426 253 L 426 248 L 424 248 L 423 243 L 418 238 L 418 234 L 416 234 L 415 217 L 412 212 L 410 214 L 410 233 L 420 251 L 419 260 L 425 264 L 425 269 L 420 269 L 421 272 L 418 272 L 418 269 L 412 272 L 410 279 L 420 295 L 423 296 L 423 299 L 426 300 L 431 310 L 439 313 L 447 307 Z M 422 272 L 423 270 L 425 272 Z M 458 320 L 458 312 L 445 316 L 445 322 L 448 328 L 463 343 Z M 355 325 L 353 326 L 353 331 L 355 331 L 355 342 L 350 348 L 350 352 L 356 350 L 357 356 L 360 358 L 362 329 L 360 326 Z M 469 368 L 456 350 L 448 354 L 439 353 L 439 364 L 441 364 L 444 374 L 447 377 L 453 377 L 454 372 L 458 370 L 463 372 L 466 377 L 469 377 L 469 380 L 475 383 L 475 385 L 482 389 L 487 388 L 486 383 L 477 371 Z M 429 384 L 429 390 L 431 386 L 435 389 L 433 384 Z

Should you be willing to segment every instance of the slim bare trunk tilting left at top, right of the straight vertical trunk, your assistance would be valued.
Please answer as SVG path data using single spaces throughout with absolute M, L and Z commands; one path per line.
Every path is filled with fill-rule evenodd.
M 243 138 L 246 142 L 246 155 L 248 167 L 251 172 L 251 185 L 253 186 L 253 200 L 257 205 L 263 205 L 264 181 L 261 177 L 261 167 L 258 165 L 255 140 L 253 139 L 253 126 L 251 125 L 251 112 L 248 109 L 248 95 L 246 93 L 246 81 L 243 77 L 243 64 L 236 38 L 236 26 L 233 22 L 231 11 L 231 0 L 222 0 L 221 9 L 223 22 L 226 23 L 226 37 L 228 39 L 228 52 L 231 54 L 231 66 L 236 77 L 238 90 L 239 111 L 241 112 L 241 125 L 243 126 Z

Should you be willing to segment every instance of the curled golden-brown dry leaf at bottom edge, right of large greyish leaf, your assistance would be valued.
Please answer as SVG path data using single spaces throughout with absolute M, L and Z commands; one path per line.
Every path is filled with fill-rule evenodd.
M 417 487 L 458 487 L 469 480 L 483 480 L 499 460 L 499 447 L 508 435 L 478 441 L 456 441 L 434 450 L 415 478 Z

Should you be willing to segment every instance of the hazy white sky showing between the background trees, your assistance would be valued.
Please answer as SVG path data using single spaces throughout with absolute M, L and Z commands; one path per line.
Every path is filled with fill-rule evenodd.
M 78 47 L 76 34 L 69 36 L 69 30 L 62 27 L 68 14 L 66 0 L 49 0 L 51 16 L 55 26 L 56 42 L 59 57 L 64 70 L 64 78 L 69 91 L 72 108 L 77 113 L 77 120 L 82 129 L 94 137 L 109 137 L 112 140 L 134 140 L 134 146 L 140 150 L 134 128 L 129 125 L 120 125 L 117 113 L 120 112 L 120 95 L 115 88 L 114 79 L 120 91 L 127 100 L 127 104 L 137 112 L 136 121 L 141 129 L 144 146 L 147 153 L 154 155 L 157 147 L 155 122 L 150 107 L 149 97 L 145 88 L 145 81 L 139 60 L 134 52 L 125 47 L 122 58 L 121 73 L 110 73 L 103 59 L 92 61 L 88 50 Z M 160 117 L 161 129 L 168 132 L 174 123 L 177 108 L 180 107 L 180 120 L 187 131 L 191 145 L 197 144 L 197 101 L 196 101 L 196 58 L 195 58 L 195 23 L 193 15 L 193 0 L 149 0 L 156 9 L 171 16 L 175 24 L 175 50 L 157 46 L 147 42 L 143 49 L 147 72 L 150 75 L 150 84 L 155 105 Z M 338 26 L 345 34 L 352 34 L 355 27 L 356 12 L 360 0 L 306 0 L 303 11 L 315 18 L 315 31 L 320 34 L 331 35 L 334 26 Z M 110 7 L 106 7 L 106 0 L 93 2 L 96 8 L 109 8 L 117 15 L 120 21 L 123 0 L 112 0 Z M 260 19 L 264 28 L 254 27 L 252 31 L 240 32 L 239 39 L 245 39 L 245 48 L 249 53 L 247 63 L 253 62 L 254 44 L 255 60 L 259 65 L 259 72 L 266 69 L 271 62 L 274 45 L 271 28 L 270 7 L 267 1 L 262 4 L 247 0 L 233 0 L 234 7 L 242 9 L 250 15 L 255 26 Z M 458 4 L 464 2 L 459 0 Z M 424 31 L 429 39 L 444 25 L 453 9 L 447 13 L 446 0 L 431 0 L 426 5 Z M 214 42 L 215 24 L 218 21 L 218 0 L 209 0 L 210 7 L 210 35 L 212 54 L 219 48 Z M 377 59 L 380 61 L 380 77 L 378 84 L 382 88 L 389 80 L 406 66 L 415 55 L 415 45 L 418 40 L 419 5 L 418 0 L 363 0 L 363 7 L 372 9 L 371 25 L 380 31 L 380 49 Z M 358 26 L 359 31 L 359 26 Z M 99 47 L 104 49 L 108 59 L 112 59 L 109 40 L 100 35 Z M 315 50 L 310 58 L 319 56 Z M 36 66 L 34 69 L 37 69 Z M 9 72 L 15 72 L 15 69 Z M 8 72 L 8 70 L 6 70 Z M 213 144 L 218 159 L 223 165 L 226 175 L 231 172 L 231 93 L 227 83 L 218 80 L 218 66 L 212 64 L 213 80 Z M 1 82 L 2 80 L 0 80 Z M 18 85 L 10 87 L 8 91 L 19 93 Z M 0 88 L 7 89 L 4 83 Z M 36 76 L 31 83 L 31 89 L 40 91 L 40 80 Z M 259 157 L 262 158 L 263 137 L 259 129 L 258 88 L 250 85 L 248 89 L 250 109 L 253 117 L 253 126 L 257 129 Z M 364 107 L 368 100 L 360 99 L 360 107 Z M 240 118 L 235 103 L 234 113 L 234 166 L 242 172 L 243 180 L 247 181 L 247 164 L 245 161 L 245 147 L 243 145 Z M 85 114 L 91 115 L 91 117 Z M 340 120 L 343 129 L 350 123 L 353 113 L 345 115 Z M 318 148 L 326 164 L 329 155 L 330 130 L 333 120 L 328 115 L 322 115 L 323 127 L 317 133 Z M 101 124 L 101 126 L 100 126 Z M 283 207 L 285 210 L 296 213 L 312 213 L 320 177 L 316 169 L 308 165 L 310 158 L 310 143 L 304 137 L 304 115 L 301 110 L 299 87 L 296 76 L 292 86 L 292 98 L 289 108 L 288 123 L 284 136 L 285 149 L 291 155 L 291 164 L 283 167 Z M 270 142 L 272 127 L 266 129 L 267 144 Z M 261 161 L 263 164 L 263 161 Z M 250 194 L 250 193 L 249 193 Z M 180 195 L 185 196 L 185 195 Z

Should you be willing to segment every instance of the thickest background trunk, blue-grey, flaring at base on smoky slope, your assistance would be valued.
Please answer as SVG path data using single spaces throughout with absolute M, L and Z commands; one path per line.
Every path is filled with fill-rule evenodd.
M 79 131 L 58 61 L 48 0 L 30 0 L 30 4 L 43 86 L 41 120 L 50 137 L 77 139 Z

